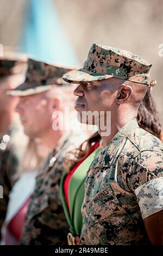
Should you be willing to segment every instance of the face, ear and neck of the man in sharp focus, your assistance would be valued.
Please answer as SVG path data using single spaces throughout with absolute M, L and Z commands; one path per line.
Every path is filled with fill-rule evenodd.
M 106 147 L 122 126 L 137 117 L 140 101 L 143 100 L 146 92 L 147 86 L 137 84 L 135 87 L 133 83 L 118 78 L 91 83 L 82 82 L 74 90 L 74 95 L 78 96 L 74 108 L 80 117 L 83 111 L 111 112 L 111 134 L 103 136 L 98 129 Z M 92 124 L 97 125 L 96 122 Z

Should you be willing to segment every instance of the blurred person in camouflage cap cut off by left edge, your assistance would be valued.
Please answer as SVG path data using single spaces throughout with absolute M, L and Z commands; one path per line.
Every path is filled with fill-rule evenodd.
M 14 113 L 18 99 L 8 96 L 7 91 L 24 81 L 26 69 L 25 54 L 5 51 L 0 57 L 0 185 L 3 187 L 0 197 L 0 232 L 7 211 L 9 191 L 15 183 L 22 153 L 21 127 Z

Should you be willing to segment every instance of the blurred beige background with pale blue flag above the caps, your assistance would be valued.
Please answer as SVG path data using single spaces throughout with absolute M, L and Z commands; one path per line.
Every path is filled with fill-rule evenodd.
M 152 63 L 153 94 L 163 124 L 162 0 L 0 0 L 0 6 L 3 46 L 47 62 L 82 65 L 96 42 Z

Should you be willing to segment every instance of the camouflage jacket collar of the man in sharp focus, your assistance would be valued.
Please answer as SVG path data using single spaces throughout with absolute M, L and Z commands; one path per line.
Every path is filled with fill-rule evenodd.
M 111 166 L 116 155 L 123 147 L 123 139 L 130 137 L 131 132 L 133 132 L 137 127 L 139 127 L 139 125 L 137 124 L 136 118 L 133 118 L 129 123 L 124 125 L 121 130 L 116 133 L 114 138 L 112 138 L 109 145 L 99 152 L 96 159 L 91 163 L 89 170 L 96 167 Z

